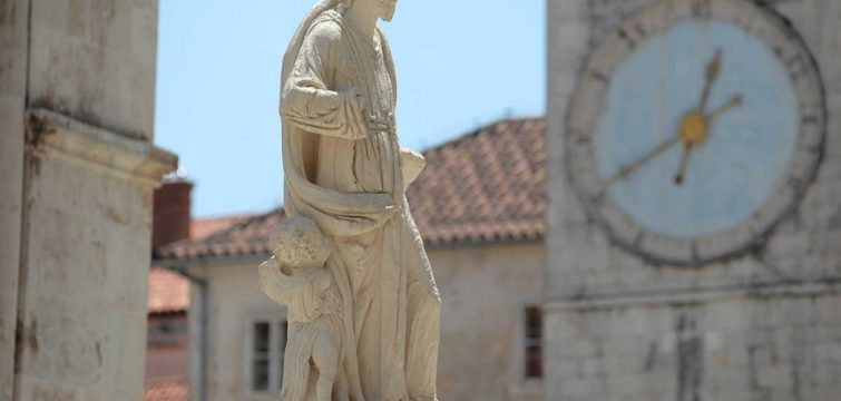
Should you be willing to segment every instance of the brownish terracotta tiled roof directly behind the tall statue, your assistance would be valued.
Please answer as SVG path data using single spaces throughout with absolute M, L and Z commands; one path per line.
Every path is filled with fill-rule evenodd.
M 537 241 L 545 233 L 546 123 L 502 120 L 423 153 L 427 167 L 407 192 L 424 242 L 432 246 Z M 156 251 L 156 260 L 268 253 L 281 209 L 256 215 L 203 239 Z

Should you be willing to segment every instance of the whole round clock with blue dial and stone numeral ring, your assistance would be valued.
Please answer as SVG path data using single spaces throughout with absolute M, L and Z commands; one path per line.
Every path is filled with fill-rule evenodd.
M 760 243 L 812 182 L 824 137 L 815 63 L 746 0 L 669 0 L 625 21 L 584 69 L 567 163 L 619 245 L 700 264 Z

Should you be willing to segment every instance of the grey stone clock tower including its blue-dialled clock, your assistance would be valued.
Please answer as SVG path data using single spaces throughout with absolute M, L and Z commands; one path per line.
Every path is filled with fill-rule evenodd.
M 841 393 L 841 2 L 549 0 L 548 400 Z

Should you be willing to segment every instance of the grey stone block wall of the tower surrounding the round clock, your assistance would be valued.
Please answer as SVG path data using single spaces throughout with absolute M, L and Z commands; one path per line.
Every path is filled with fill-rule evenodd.
M 767 1 L 823 72 L 825 154 L 796 213 L 752 254 L 652 265 L 612 245 L 568 185 L 577 71 L 651 0 L 549 0 L 548 400 L 830 400 L 841 393 L 841 3 Z M 726 372 L 726 373 L 723 373 Z M 656 389 L 656 391 L 654 390 Z

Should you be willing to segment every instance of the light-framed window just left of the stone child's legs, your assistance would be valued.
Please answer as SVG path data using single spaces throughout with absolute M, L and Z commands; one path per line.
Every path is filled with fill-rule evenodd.
M 281 391 L 286 327 L 286 322 L 283 320 L 264 319 L 252 322 L 248 344 L 248 382 L 253 392 Z

